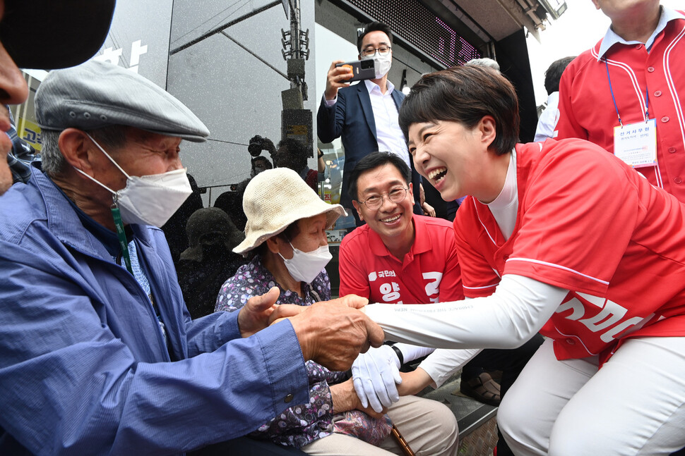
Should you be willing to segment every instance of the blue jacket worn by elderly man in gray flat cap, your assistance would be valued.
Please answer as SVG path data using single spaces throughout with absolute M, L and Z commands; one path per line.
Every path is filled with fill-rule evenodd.
M 164 234 L 132 228 L 169 350 L 143 288 L 52 180 L 32 168 L 0 197 L 1 455 L 179 453 L 309 399 L 289 322 L 241 338 L 237 312 L 192 321 Z

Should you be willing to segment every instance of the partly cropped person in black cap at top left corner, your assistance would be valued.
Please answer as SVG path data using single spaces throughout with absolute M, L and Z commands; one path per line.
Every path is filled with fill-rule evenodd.
M 7 105 L 28 97 L 19 68 L 49 70 L 82 63 L 105 42 L 113 13 L 114 0 L 0 0 L 0 130 L 13 130 Z M 16 143 L 21 146 L 18 138 Z M 11 138 L 0 133 L 0 195 L 13 182 L 10 164 L 24 171 L 12 150 Z

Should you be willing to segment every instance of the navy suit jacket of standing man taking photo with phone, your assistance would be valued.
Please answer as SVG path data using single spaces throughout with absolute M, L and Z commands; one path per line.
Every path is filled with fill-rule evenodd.
M 393 90 L 391 94 L 399 111 L 405 94 Z M 369 91 L 364 82 L 338 90 L 338 101 L 333 106 L 326 106 L 326 98 L 321 97 L 321 106 L 316 116 L 318 139 L 321 142 L 331 142 L 342 136 L 342 147 L 345 147 L 345 166 L 342 168 L 342 190 L 340 204 L 352 207 L 352 198 L 347 195 L 350 171 L 357 162 L 371 152 L 379 149 L 376 137 L 376 121 L 374 110 L 371 108 Z M 414 185 L 414 212 L 422 214 L 419 207 L 419 183 L 421 176 L 412 168 L 412 184 Z

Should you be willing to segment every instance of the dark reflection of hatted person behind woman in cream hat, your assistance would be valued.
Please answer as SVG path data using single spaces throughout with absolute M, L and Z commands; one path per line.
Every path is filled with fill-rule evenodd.
M 245 239 L 218 207 L 198 209 L 186 224 L 189 247 L 181 252 L 179 285 L 193 319 L 214 312 L 221 285 L 247 262 L 233 249 Z

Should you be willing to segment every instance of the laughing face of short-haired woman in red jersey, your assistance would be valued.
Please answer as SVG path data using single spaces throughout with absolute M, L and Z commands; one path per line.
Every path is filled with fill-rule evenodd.
M 452 121 L 412 123 L 409 152 L 416 170 L 445 201 L 478 197 L 487 146 L 479 140 L 477 128 L 469 130 Z

